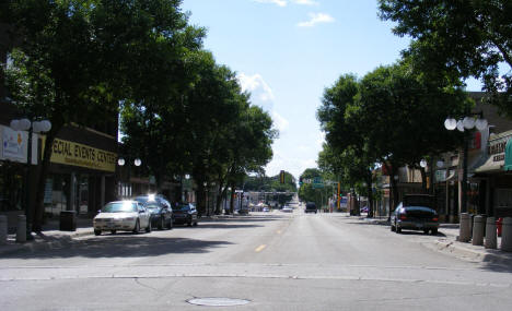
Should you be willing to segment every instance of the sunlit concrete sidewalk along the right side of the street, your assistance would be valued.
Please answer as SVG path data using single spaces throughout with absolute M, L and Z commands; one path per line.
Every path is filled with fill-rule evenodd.
M 364 216 L 359 216 L 359 219 L 375 225 L 388 225 L 387 217 L 366 218 Z M 422 244 L 431 250 L 450 253 L 470 261 L 512 266 L 512 252 L 500 250 L 500 237 L 498 237 L 498 249 L 492 250 L 486 249 L 484 246 L 474 246 L 472 242 L 466 243 L 457 241 L 458 231 L 458 224 L 440 224 L 438 239 L 432 243 Z M 444 237 L 441 235 L 444 235 Z

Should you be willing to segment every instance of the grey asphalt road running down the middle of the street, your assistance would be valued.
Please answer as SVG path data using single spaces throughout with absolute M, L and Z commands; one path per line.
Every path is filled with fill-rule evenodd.
M 442 231 L 440 232 L 442 236 Z M 0 259 L 1 310 L 505 310 L 512 268 L 344 214 L 254 213 Z M 201 307 L 195 298 L 236 298 Z M 219 302 L 219 301 L 217 301 Z M 228 300 L 221 300 L 228 303 Z M 236 301 L 234 301 L 236 302 Z

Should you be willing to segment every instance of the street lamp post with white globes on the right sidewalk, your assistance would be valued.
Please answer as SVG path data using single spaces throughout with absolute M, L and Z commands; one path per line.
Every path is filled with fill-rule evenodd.
M 475 116 L 478 115 L 478 119 Z M 464 119 L 455 120 L 451 117 L 446 118 L 444 121 L 444 127 L 449 131 L 453 131 L 457 129 L 459 132 L 464 132 L 464 151 L 463 151 L 463 180 L 461 187 L 461 213 L 467 212 L 467 153 L 469 149 L 469 136 L 468 131 L 474 129 L 475 127 L 478 130 L 484 130 L 487 128 L 487 120 L 481 117 L 481 113 L 477 113 L 474 116 L 464 117 Z M 467 131 L 466 131 L 467 130 Z

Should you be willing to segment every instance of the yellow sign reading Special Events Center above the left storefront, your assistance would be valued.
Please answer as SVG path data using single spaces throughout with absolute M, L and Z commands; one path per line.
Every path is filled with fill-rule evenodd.
M 114 172 L 116 159 L 115 153 L 55 139 L 50 162 Z

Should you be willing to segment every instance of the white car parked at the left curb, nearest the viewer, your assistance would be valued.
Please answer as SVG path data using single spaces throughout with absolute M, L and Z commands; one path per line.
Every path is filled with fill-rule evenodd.
M 94 235 L 102 231 L 116 234 L 117 230 L 138 234 L 141 228 L 151 232 L 151 213 L 137 201 L 115 201 L 103 206 L 100 214 L 94 217 Z

